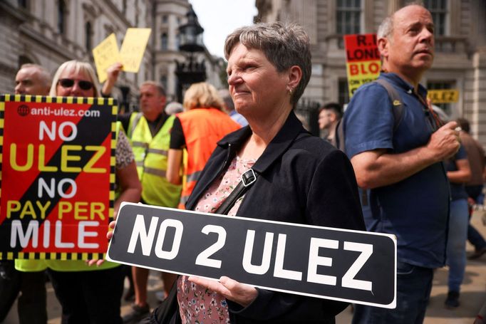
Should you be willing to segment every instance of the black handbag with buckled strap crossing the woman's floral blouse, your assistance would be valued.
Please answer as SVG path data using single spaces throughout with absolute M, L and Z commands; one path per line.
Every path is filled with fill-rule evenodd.
M 249 187 L 252 187 L 252 184 L 257 181 L 257 174 L 253 169 L 248 169 L 242 174 L 241 179 L 242 181 L 239 182 L 237 187 L 234 187 L 231 194 L 229 194 L 227 199 L 224 199 L 224 202 L 214 214 L 228 214 L 229 210 L 234 206 L 234 203 L 237 202 L 237 199 L 242 197 L 248 191 Z M 143 320 L 140 324 L 182 324 L 179 304 L 177 303 L 177 280 L 172 285 L 167 298 L 162 301 L 159 307 L 155 308 L 150 318 Z

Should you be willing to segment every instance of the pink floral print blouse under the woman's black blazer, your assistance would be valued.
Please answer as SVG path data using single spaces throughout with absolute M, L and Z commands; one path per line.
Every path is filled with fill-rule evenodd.
M 195 211 L 214 213 L 239 184 L 241 175 L 251 168 L 255 161 L 235 157 L 229 164 L 227 172 L 215 180 L 197 202 Z M 228 213 L 229 216 L 237 214 L 242 199 L 243 197 L 240 197 L 235 202 Z M 187 276 L 180 276 L 177 279 L 177 302 L 182 323 L 229 323 L 226 299 L 214 291 L 191 283 L 187 278 Z

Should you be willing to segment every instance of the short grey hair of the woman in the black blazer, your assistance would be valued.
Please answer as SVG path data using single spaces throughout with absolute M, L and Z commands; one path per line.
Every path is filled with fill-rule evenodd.
M 311 50 L 309 36 L 296 23 L 256 23 L 237 28 L 224 42 L 224 57 L 229 58 L 237 43 L 247 48 L 262 51 L 280 73 L 292 66 L 299 66 L 302 78 L 291 95 L 291 104 L 296 105 L 311 79 Z

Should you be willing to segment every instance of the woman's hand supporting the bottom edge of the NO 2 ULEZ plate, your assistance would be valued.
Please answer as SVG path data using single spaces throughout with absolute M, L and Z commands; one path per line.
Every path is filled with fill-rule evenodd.
M 190 276 L 188 279 L 190 282 L 196 285 L 206 287 L 216 293 L 221 294 L 229 301 L 239 303 L 243 307 L 247 307 L 258 296 L 258 291 L 252 286 L 239 283 L 232 278 L 222 276 L 219 281 L 200 278 L 196 276 Z

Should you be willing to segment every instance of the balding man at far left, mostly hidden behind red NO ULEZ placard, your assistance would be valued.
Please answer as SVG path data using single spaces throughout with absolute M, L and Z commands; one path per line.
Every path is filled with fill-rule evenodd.
M 51 75 L 37 64 L 24 64 L 15 77 L 16 95 L 48 95 L 50 87 Z M 47 323 L 45 270 L 43 261 L 0 261 L 0 323 L 19 292 L 19 323 Z

